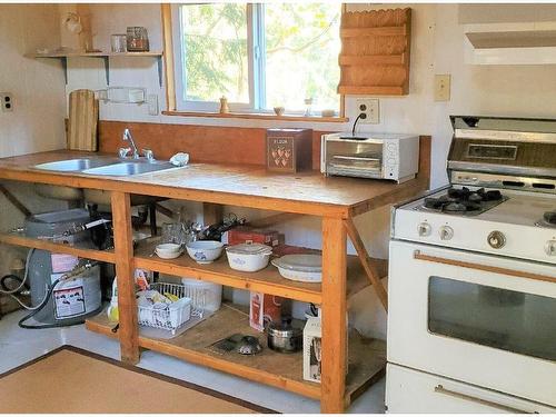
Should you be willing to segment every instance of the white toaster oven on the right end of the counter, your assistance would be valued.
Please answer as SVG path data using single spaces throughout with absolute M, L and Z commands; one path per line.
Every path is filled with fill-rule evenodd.
M 325 176 L 389 179 L 415 178 L 419 137 L 396 133 L 330 133 L 321 137 L 320 171 Z

